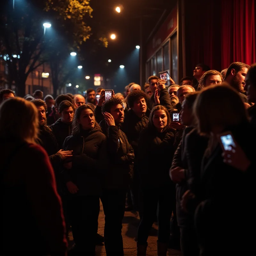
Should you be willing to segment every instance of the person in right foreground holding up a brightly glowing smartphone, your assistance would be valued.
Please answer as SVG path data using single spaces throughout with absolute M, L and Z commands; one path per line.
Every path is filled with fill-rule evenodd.
M 253 168 L 256 149 L 252 147 L 256 137 L 244 103 L 228 85 L 209 86 L 196 99 L 194 114 L 197 131 L 209 137 L 202 160 L 200 191 L 194 195 L 200 202 L 195 213 L 200 254 L 255 255 L 256 235 L 251 230 L 256 228 L 252 203 L 256 196 Z M 220 139 L 223 136 L 226 136 L 224 141 Z M 235 146 L 223 145 L 232 140 Z M 225 161 L 225 156 L 228 160 L 232 151 L 240 148 L 249 160 L 246 164 L 239 166 Z M 189 191 L 184 194 L 183 208 L 192 197 Z

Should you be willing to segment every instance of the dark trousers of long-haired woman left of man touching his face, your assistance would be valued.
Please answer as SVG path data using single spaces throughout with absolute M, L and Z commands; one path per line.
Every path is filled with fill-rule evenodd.
M 71 196 L 68 200 L 68 216 L 78 251 L 84 255 L 95 255 L 99 196 Z

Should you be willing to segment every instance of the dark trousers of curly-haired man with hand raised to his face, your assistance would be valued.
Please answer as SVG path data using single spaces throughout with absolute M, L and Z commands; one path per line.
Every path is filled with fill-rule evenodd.
M 124 255 L 122 220 L 126 191 L 126 189 L 104 189 L 100 197 L 105 214 L 104 243 L 108 256 Z

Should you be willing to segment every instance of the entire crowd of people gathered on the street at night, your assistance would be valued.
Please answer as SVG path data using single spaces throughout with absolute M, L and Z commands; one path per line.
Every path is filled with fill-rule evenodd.
M 166 84 L 169 83 L 169 86 Z M 95 255 L 100 200 L 107 256 L 124 255 L 122 220 L 138 211 L 137 255 L 157 219 L 157 255 L 256 255 L 256 63 L 196 65 L 179 84 L 88 89 L 54 99 L 0 91 L 1 255 Z M 179 232 L 173 226 L 177 223 Z

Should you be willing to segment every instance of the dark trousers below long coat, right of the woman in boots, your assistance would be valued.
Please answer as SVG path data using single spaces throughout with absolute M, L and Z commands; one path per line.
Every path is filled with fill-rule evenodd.
M 193 225 L 180 227 L 180 246 L 183 256 L 199 255 L 199 246 Z

